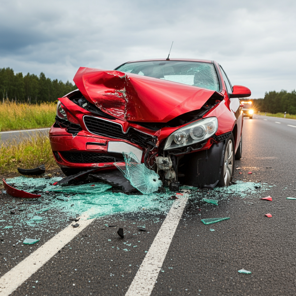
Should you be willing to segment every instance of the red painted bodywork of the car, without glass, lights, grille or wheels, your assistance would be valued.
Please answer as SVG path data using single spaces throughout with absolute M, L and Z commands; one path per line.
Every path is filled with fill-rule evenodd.
M 239 146 L 243 116 L 241 107 L 236 112 L 230 108 L 230 98 L 226 91 L 223 76 L 217 62 L 197 59 L 170 59 L 172 61 L 190 61 L 213 63 L 217 75 L 220 76 L 220 91 L 213 91 L 196 86 L 162 80 L 138 74 L 124 73 L 118 70 L 99 70 L 93 68 L 80 67 L 74 77 L 74 82 L 85 99 L 102 110 L 111 119 L 103 119 L 109 123 L 116 123 L 122 127 L 123 133 L 139 131 L 150 135 L 155 139 L 155 147 L 147 152 L 144 147 L 128 139 L 114 138 L 110 136 L 96 135 L 88 130 L 83 120 L 85 115 L 101 119 L 100 115 L 84 109 L 69 99 L 71 93 L 59 98 L 61 107 L 67 114 L 67 119 L 73 124 L 79 123 L 81 131 L 73 134 L 68 132 L 67 127 L 53 125 L 49 138 L 54 152 L 55 160 L 61 168 L 86 170 L 89 167 L 100 170 L 113 170 L 114 161 L 81 163 L 69 161 L 63 156 L 64 152 L 96 152 L 108 156 L 107 151 L 109 141 L 121 141 L 132 145 L 143 151 L 141 162 L 144 162 L 144 155 L 147 152 L 147 164 L 152 162 L 152 157 L 157 156 L 159 147 L 164 144 L 167 137 L 186 126 L 162 127 L 157 131 L 140 125 L 141 123 L 168 123 L 170 120 L 193 110 L 199 110 L 208 99 L 215 96 L 217 99 L 215 106 L 205 112 L 202 118 L 217 117 L 218 131 L 215 136 L 228 132 L 234 133 L 235 151 Z M 165 59 L 152 59 L 143 61 L 166 61 Z M 250 95 L 250 90 L 242 86 L 234 86 L 239 95 Z M 230 95 L 231 97 L 231 95 Z M 113 117 L 113 118 L 112 118 Z M 207 139 L 200 150 L 209 149 L 214 138 Z M 194 151 L 192 151 L 194 152 Z M 162 152 L 161 152 L 162 153 Z

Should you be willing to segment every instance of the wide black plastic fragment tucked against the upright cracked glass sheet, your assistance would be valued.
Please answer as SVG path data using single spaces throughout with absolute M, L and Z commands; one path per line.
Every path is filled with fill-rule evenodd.
M 120 172 L 120 170 L 113 170 L 107 173 L 90 174 L 89 176 L 115 187 L 113 192 L 123 192 L 129 194 L 137 191 L 137 189 L 131 185 L 130 181 L 123 176 L 123 173 Z

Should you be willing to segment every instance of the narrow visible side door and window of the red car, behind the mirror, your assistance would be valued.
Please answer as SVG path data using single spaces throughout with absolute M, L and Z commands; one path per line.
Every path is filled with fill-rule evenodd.
M 226 73 L 224 72 L 223 68 L 221 67 L 221 65 L 219 65 L 219 67 L 220 67 L 220 70 L 221 70 L 221 73 L 223 76 L 223 80 L 224 80 L 224 83 L 226 86 L 226 90 L 227 90 L 227 93 L 229 96 L 229 94 L 232 93 L 231 83 L 230 83 Z M 240 108 L 239 106 L 240 106 L 240 102 L 239 102 L 238 98 L 231 98 L 230 99 L 230 105 L 229 105 L 230 110 L 232 112 L 234 112 L 235 118 L 237 119 L 237 140 L 236 140 L 236 144 L 235 144 L 235 149 L 237 149 L 237 147 L 239 146 L 240 135 L 242 132 L 242 122 L 243 122 L 243 115 L 242 115 L 242 111 L 241 111 L 242 108 Z

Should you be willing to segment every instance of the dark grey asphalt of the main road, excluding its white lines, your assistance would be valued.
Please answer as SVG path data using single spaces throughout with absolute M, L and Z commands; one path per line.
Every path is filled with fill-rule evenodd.
M 151 295 L 296 295 L 296 200 L 286 199 L 296 197 L 295 141 L 296 120 L 244 119 L 243 156 L 235 163 L 240 169 L 234 181 L 256 182 L 258 188 L 245 195 L 241 185 L 191 193 Z M 201 196 L 218 197 L 219 205 L 202 202 Z M 260 200 L 266 196 L 272 201 Z M 3 207 L 13 204 L 6 195 L 0 198 Z M 3 219 L 9 217 L 5 212 Z M 211 225 L 200 221 L 217 217 L 230 219 Z M 164 219 L 151 212 L 95 219 L 12 295 L 126 295 Z M 55 209 L 47 231 L 1 229 L 0 276 L 65 228 L 68 222 L 61 221 L 66 220 Z M 147 231 L 138 231 L 143 224 Z M 124 228 L 124 239 L 116 234 L 118 227 Z M 40 242 L 13 246 L 28 234 L 41 237 Z

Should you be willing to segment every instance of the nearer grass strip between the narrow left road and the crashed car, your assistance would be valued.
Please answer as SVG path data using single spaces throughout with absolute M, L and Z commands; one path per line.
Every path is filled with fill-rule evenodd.
M 45 164 L 46 170 L 58 168 L 52 155 L 48 136 L 40 133 L 12 140 L 0 146 L 0 173 L 17 172 L 17 168 L 36 168 Z

